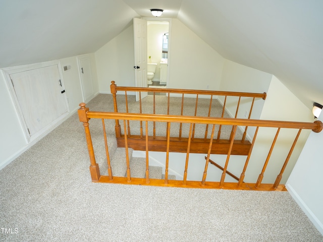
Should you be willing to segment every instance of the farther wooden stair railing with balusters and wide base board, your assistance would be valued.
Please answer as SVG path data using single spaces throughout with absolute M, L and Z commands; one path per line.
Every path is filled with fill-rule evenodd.
M 227 103 L 227 97 L 229 96 L 234 96 L 234 97 L 239 97 L 238 103 L 237 103 L 237 108 L 235 112 L 235 118 L 238 115 L 238 110 L 240 106 L 240 100 L 241 97 L 248 97 L 252 98 L 250 110 L 249 110 L 249 116 L 248 119 L 251 117 L 251 112 L 253 108 L 253 104 L 255 101 L 255 98 L 262 98 L 265 100 L 266 98 L 266 93 L 247 93 L 247 92 L 226 92 L 226 91 L 209 91 L 209 90 L 188 90 L 188 89 L 164 89 L 164 88 L 139 88 L 139 87 L 119 87 L 116 85 L 115 81 L 111 82 L 111 93 L 113 95 L 113 100 L 114 100 L 114 110 L 115 112 L 118 112 L 118 104 L 117 104 L 117 97 L 116 94 L 118 91 L 124 91 L 125 92 L 125 100 L 126 100 L 126 112 L 129 112 L 128 108 L 128 95 L 127 92 L 139 92 L 139 113 L 142 113 L 142 102 L 141 102 L 141 92 L 152 92 L 153 93 L 153 114 L 155 114 L 155 93 L 167 93 L 168 94 L 168 102 L 167 102 L 167 115 L 170 114 L 170 94 L 181 94 L 182 95 L 182 104 L 181 104 L 181 116 L 183 116 L 183 110 L 184 110 L 184 94 L 193 94 L 196 95 L 196 100 L 195 100 L 195 109 L 194 109 L 194 116 L 197 115 L 197 109 L 198 109 L 198 100 L 199 96 L 202 95 L 207 95 L 209 96 L 210 102 L 208 106 L 208 116 L 210 117 L 211 114 L 211 107 L 212 107 L 212 100 L 213 96 L 225 96 L 224 99 L 224 104 L 222 108 L 222 116 L 224 117 L 225 114 L 225 109 L 226 109 L 226 103 Z M 143 150 L 145 147 L 145 140 L 143 139 L 143 129 L 142 129 L 142 121 L 140 121 L 140 135 L 133 135 L 130 132 L 130 125 L 129 125 L 129 120 L 127 121 L 127 130 L 128 130 L 128 145 L 130 148 L 134 150 Z M 204 132 L 204 138 L 195 138 L 195 127 L 196 124 L 193 124 L 192 128 L 192 137 L 191 141 L 194 143 L 192 145 L 191 153 L 206 153 L 208 150 L 208 141 L 207 135 L 208 135 L 208 124 L 205 126 L 205 132 Z M 232 126 L 232 131 L 231 131 L 231 137 L 233 136 L 233 129 L 234 126 Z M 250 149 L 250 142 L 246 140 L 246 134 L 247 134 L 247 129 L 248 126 L 245 127 L 243 136 L 241 140 L 235 140 L 233 143 L 233 153 L 234 155 L 247 155 L 248 151 Z M 117 138 L 117 143 L 118 147 L 125 147 L 124 139 L 123 139 L 123 134 L 121 131 L 121 126 L 119 124 L 119 120 L 116 119 L 116 138 Z M 230 147 L 230 141 L 225 140 L 225 139 L 220 139 L 221 137 L 221 130 L 222 130 L 222 125 L 219 127 L 219 131 L 217 134 L 217 141 L 214 141 L 211 146 L 211 154 L 226 154 L 229 147 Z M 152 151 L 162 151 L 165 152 L 167 149 L 167 140 L 166 136 L 156 136 L 156 126 L 155 122 L 153 122 L 153 135 L 148 136 L 149 141 L 153 142 L 152 143 Z M 171 152 L 186 152 L 186 147 L 187 147 L 187 142 L 188 138 L 183 138 L 182 137 L 182 123 L 179 124 L 179 135 L 178 137 L 170 137 L 170 149 Z

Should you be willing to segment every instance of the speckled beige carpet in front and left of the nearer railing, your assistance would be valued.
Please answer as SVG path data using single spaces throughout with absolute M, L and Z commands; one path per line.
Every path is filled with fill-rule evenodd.
M 112 96 L 88 106 L 112 110 Z M 90 126 L 98 151 L 100 120 Z M 88 167 L 73 114 L 0 170 L 0 241 L 323 241 L 288 192 L 96 184 Z

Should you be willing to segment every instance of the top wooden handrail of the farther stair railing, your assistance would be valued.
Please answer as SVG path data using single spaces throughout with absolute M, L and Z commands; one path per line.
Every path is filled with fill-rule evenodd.
M 227 91 L 210 91 L 210 90 L 193 90 L 193 89 L 172 89 L 172 88 L 149 88 L 149 87 L 119 87 L 115 81 L 111 82 L 114 90 L 117 91 L 133 91 L 133 92 L 163 92 L 163 93 L 184 93 L 184 94 L 199 94 L 199 95 L 219 95 L 219 96 L 236 96 L 236 97 L 258 97 L 266 99 L 266 93 L 252 92 L 227 92 Z

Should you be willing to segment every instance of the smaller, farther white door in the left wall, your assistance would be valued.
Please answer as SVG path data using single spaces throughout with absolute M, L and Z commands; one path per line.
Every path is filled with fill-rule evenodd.
M 83 101 L 88 102 L 94 95 L 91 60 L 89 56 L 78 57 L 80 77 L 82 82 Z

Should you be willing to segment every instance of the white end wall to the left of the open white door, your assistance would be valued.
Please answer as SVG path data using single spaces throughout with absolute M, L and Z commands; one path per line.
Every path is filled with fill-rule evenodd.
M 111 81 L 118 86 L 135 86 L 133 25 L 95 52 L 100 93 L 111 93 Z

